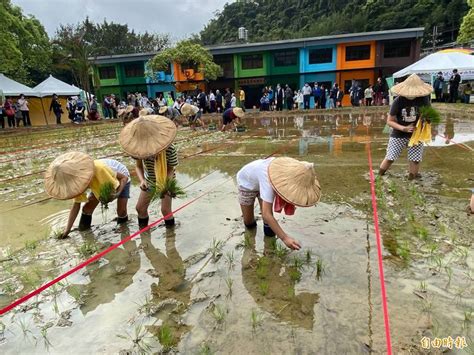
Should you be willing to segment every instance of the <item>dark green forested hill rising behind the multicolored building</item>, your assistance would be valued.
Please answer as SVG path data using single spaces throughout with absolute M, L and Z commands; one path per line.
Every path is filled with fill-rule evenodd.
M 200 33 L 203 44 L 270 41 L 340 33 L 425 27 L 425 45 L 438 26 L 441 43 L 456 39 L 466 0 L 238 0 L 226 4 Z M 439 43 L 438 43 L 439 44 Z

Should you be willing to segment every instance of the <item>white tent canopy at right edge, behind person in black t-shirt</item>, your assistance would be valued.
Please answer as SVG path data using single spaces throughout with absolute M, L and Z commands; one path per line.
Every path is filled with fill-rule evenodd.
M 449 78 L 453 69 L 458 70 L 463 80 L 474 78 L 474 55 L 461 50 L 439 51 L 397 71 L 393 77 L 401 78 L 411 74 L 433 76 L 442 72 L 444 77 Z

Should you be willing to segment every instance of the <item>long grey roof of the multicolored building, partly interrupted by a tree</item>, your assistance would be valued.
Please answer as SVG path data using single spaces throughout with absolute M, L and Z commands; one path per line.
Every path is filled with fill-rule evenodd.
M 386 41 L 404 38 L 420 38 L 423 36 L 423 27 L 405 28 L 375 32 L 344 33 L 330 36 L 286 39 L 281 41 L 257 43 L 230 43 L 205 46 L 213 55 L 259 52 L 287 48 L 305 48 L 312 46 L 330 45 L 338 43 Z M 90 58 L 94 64 L 114 64 L 124 62 L 145 61 L 151 59 L 158 52 L 117 54 Z

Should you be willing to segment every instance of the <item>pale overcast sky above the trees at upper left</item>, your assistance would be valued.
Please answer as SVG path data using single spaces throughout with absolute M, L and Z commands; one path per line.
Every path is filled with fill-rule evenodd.
M 24 14 L 38 18 L 50 36 L 61 23 L 77 23 L 86 16 L 94 22 L 126 23 L 135 32 L 170 33 L 182 39 L 199 32 L 234 0 L 12 0 Z M 177 6 L 179 4 L 179 6 Z M 0 19 L 1 21 L 1 19 Z

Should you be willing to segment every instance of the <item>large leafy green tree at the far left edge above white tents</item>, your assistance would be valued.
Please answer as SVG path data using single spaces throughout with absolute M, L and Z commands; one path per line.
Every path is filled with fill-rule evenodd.
M 0 0 L 0 72 L 35 85 L 49 74 L 51 45 L 41 23 L 24 16 L 10 0 Z

